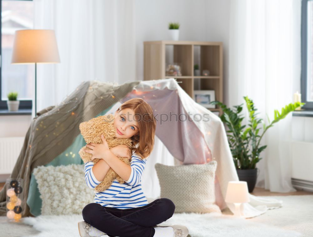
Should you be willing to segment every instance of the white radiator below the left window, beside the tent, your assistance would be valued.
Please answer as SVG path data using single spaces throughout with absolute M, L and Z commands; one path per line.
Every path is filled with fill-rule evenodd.
M 10 174 L 23 147 L 25 137 L 0 137 L 0 174 Z

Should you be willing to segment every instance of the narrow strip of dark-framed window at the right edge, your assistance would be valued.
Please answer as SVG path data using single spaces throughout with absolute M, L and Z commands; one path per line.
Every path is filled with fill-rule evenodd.
M 301 102 L 313 109 L 313 1 L 302 0 L 301 9 Z

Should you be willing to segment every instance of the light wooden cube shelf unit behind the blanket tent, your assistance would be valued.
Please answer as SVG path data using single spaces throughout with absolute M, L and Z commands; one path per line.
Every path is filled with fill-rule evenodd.
M 181 75 L 168 75 L 168 65 L 177 64 Z M 200 76 L 194 75 L 198 64 Z M 209 75 L 203 75 L 208 70 Z M 214 90 L 215 100 L 223 102 L 223 43 L 205 41 L 145 41 L 144 80 L 175 78 L 186 93 L 193 98 L 194 90 Z M 219 111 L 216 106 L 211 111 Z

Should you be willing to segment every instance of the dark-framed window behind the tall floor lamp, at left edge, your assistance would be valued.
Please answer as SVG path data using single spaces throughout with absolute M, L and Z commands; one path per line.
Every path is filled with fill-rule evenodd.
M 34 96 L 34 64 L 11 64 L 16 30 L 33 29 L 32 0 L 1 0 L 0 109 L 8 109 L 8 93 L 18 92 L 19 109 L 31 109 Z

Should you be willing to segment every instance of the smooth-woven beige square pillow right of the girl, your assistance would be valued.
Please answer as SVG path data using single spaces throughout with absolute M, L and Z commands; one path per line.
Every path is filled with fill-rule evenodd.
M 215 203 L 216 161 L 206 164 L 168 166 L 155 164 L 161 198 L 175 204 L 175 213 L 221 212 Z

